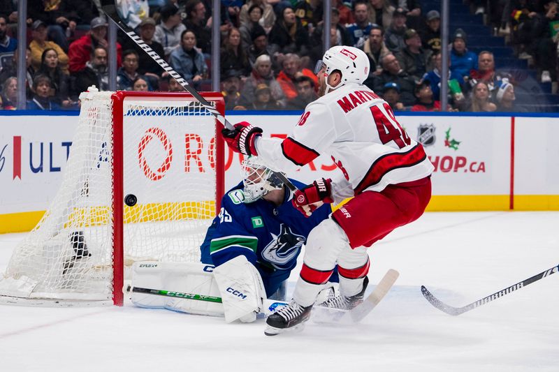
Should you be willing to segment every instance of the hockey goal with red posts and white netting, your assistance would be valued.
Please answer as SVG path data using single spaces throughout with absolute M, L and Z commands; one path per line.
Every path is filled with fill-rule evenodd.
M 221 94 L 204 98 L 224 112 Z M 87 92 L 61 187 L 15 248 L 4 303 L 123 303 L 137 260 L 198 262 L 223 195 L 219 124 L 187 93 Z

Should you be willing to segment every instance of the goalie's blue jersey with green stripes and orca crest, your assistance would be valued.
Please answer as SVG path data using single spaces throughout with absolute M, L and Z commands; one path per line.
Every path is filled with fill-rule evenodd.
M 298 188 L 305 185 L 291 179 Z M 245 255 L 260 272 L 270 297 L 297 264 L 301 246 L 310 230 L 328 218 L 331 204 L 324 204 L 305 217 L 291 204 L 293 194 L 285 188 L 284 202 L 276 206 L 263 199 L 243 202 L 242 182 L 222 198 L 222 209 L 214 218 L 201 246 L 201 261 L 219 266 Z

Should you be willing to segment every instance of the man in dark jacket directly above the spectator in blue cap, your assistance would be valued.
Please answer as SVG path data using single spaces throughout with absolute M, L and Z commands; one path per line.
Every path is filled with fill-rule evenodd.
M 412 76 L 405 73 L 400 67 L 398 59 L 394 54 L 386 54 L 382 59 L 384 71 L 375 79 L 372 90 L 383 91 L 386 83 L 395 82 L 400 87 L 400 98 L 405 106 L 415 103 L 414 87 L 415 80 Z

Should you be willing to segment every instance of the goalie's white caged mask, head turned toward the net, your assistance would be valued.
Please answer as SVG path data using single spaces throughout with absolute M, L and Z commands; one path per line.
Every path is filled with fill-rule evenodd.
M 245 203 L 252 203 L 273 190 L 283 187 L 270 168 L 263 165 L 256 156 L 249 156 L 242 161 L 242 193 L 245 195 Z

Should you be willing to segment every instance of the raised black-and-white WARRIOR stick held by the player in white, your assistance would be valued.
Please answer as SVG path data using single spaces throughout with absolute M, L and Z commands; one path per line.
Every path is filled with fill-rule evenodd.
M 196 98 L 196 100 L 199 103 L 201 103 L 204 106 L 204 108 L 210 112 L 210 114 L 215 116 L 217 121 L 219 121 L 219 123 L 221 123 L 222 126 L 224 126 L 227 129 L 234 129 L 233 125 L 231 125 L 231 123 L 221 113 L 219 113 L 219 111 L 217 111 L 217 109 L 213 107 L 211 103 L 209 103 L 205 98 L 203 98 L 203 96 L 201 96 L 201 94 L 199 94 L 198 91 L 196 91 L 196 89 L 194 89 L 194 87 L 192 87 L 187 82 L 187 80 L 184 80 L 184 78 L 179 73 L 177 73 L 177 71 L 175 71 L 173 67 L 171 67 L 164 59 L 159 57 L 159 54 L 157 54 L 154 50 L 152 50 L 150 45 L 147 45 L 145 41 L 142 40 L 142 38 L 140 38 L 140 36 L 138 36 L 136 32 L 134 32 L 133 29 L 128 27 L 128 25 L 125 24 L 124 22 L 122 22 L 120 16 L 118 15 L 117 7 L 115 6 L 115 0 L 101 0 L 101 8 L 103 9 L 103 12 L 105 12 L 105 14 L 117 24 L 119 29 L 122 29 L 122 31 L 124 31 L 124 34 L 126 34 L 126 36 L 131 38 L 133 42 L 136 43 L 140 48 L 142 48 L 147 53 L 147 55 L 149 55 L 154 61 L 156 61 L 157 64 L 159 64 L 159 66 L 161 66 L 161 68 L 166 70 L 169 73 L 169 75 L 171 75 L 175 80 L 177 80 L 177 82 L 184 89 L 186 89 L 194 98 Z M 297 190 L 296 186 L 293 185 L 291 181 L 289 181 L 289 179 L 287 179 L 287 177 L 284 176 L 284 174 L 282 174 L 281 172 L 273 172 L 273 174 L 277 178 L 279 178 L 285 184 L 285 186 L 289 188 L 289 190 L 293 192 Z

